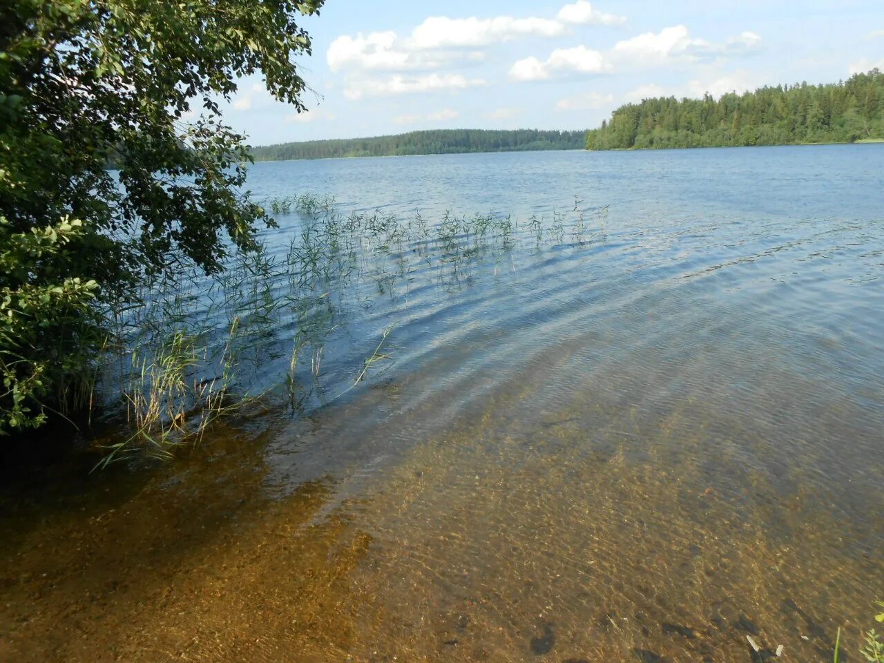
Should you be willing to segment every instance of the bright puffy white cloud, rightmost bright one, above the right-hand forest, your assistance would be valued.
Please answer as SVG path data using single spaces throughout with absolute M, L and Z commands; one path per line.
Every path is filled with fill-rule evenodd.
M 690 36 L 685 26 L 664 27 L 659 33 L 646 32 L 617 42 L 613 54 L 636 65 L 660 65 L 671 58 L 696 61 L 703 58 L 734 56 L 758 50 L 761 37 L 743 32 L 721 43 Z

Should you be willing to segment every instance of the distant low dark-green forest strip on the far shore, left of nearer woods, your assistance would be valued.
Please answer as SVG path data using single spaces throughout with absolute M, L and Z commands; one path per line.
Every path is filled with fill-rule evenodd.
M 325 159 L 339 156 L 405 156 L 465 152 L 521 152 L 540 149 L 583 149 L 583 131 L 514 131 L 438 129 L 394 136 L 332 141 L 288 142 L 252 148 L 256 161 Z

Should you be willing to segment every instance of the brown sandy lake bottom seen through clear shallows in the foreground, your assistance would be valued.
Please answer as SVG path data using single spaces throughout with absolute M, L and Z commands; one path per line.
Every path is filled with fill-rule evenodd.
M 125 489 L 5 504 L 0 659 L 827 661 L 838 626 L 858 658 L 880 492 L 851 522 L 812 462 L 773 481 L 696 400 L 526 411 L 531 388 L 393 455 L 396 416 L 347 423 L 390 398 L 368 390 L 327 429 L 216 431 Z M 286 436 L 314 476 L 280 491 Z

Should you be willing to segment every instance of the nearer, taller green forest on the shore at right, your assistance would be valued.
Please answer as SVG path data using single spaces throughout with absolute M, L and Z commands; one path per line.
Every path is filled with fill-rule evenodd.
M 884 139 L 884 73 L 758 88 L 715 100 L 645 99 L 613 111 L 587 149 L 707 148 Z

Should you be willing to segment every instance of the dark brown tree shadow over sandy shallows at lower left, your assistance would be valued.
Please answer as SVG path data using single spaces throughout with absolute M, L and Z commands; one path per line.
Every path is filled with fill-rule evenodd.
M 57 463 L 42 482 L 6 485 L 0 659 L 178 657 L 199 639 L 191 627 L 206 626 L 187 625 L 200 618 L 201 602 L 211 598 L 221 606 L 239 583 L 267 588 L 276 582 L 271 569 L 259 568 L 258 560 L 273 563 L 263 550 L 322 566 L 321 552 L 312 548 L 303 555 L 285 539 L 323 507 L 334 482 L 322 477 L 299 485 L 279 522 L 264 485 L 268 432 L 218 424 L 211 440 L 182 450 L 173 466 L 115 465 L 90 473 L 91 453 Z M 311 541 L 319 544 L 316 537 Z M 215 581 L 225 578 L 225 587 L 206 594 L 207 573 Z M 316 600 L 323 593 L 317 590 Z M 309 607 L 304 600 L 299 605 Z M 181 620 L 186 611 L 190 618 Z M 249 606 L 248 618 L 240 618 L 251 623 L 259 613 L 259 606 Z M 168 618 L 162 633 L 153 631 Z M 252 628 L 261 632 L 260 624 Z

